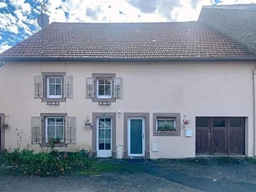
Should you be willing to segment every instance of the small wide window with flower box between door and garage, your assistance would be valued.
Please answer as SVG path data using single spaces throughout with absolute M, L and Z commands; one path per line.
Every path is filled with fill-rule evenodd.
M 156 131 L 169 131 L 177 132 L 176 119 L 173 118 L 157 118 L 157 130 Z

